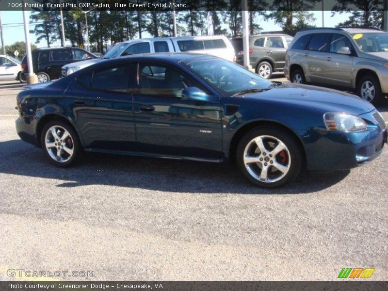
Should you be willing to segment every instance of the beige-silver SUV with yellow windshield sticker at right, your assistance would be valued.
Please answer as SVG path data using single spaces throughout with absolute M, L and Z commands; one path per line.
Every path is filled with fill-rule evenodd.
M 355 90 L 374 105 L 388 94 L 388 33 L 373 28 L 313 28 L 296 33 L 284 74 L 294 83 Z

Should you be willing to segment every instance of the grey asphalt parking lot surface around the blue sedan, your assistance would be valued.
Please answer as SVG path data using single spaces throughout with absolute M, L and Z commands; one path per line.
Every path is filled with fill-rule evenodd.
M 17 136 L 19 90 L 0 82 L 0 278 L 336 280 L 359 267 L 388 279 L 387 150 L 277 190 L 224 164 L 89 154 L 60 169 Z

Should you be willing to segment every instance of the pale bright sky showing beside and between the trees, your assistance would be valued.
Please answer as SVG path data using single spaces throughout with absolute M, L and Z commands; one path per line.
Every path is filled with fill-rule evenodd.
M 311 11 L 315 18 L 315 25 L 317 27 L 322 26 L 322 11 Z M 11 45 L 15 43 L 16 41 L 24 41 L 24 28 L 23 28 L 23 14 L 21 11 L 0 11 L 1 13 L 1 20 L 3 24 L 3 34 L 4 34 L 4 42 L 5 45 Z M 30 16 L 31 11 L 27 11 L 28 15 Z M 59 13 L 59 11 L 58 11 Z M 93 13 L 93 12 L 91 12 Z M 348 13 L 344 14 L 337 14 L 333 17 L 331 17 L 331 11 L 324 11 L 324 22 L 325 27 L 334 27 L 340 22 L 343 22 L 347 20 L 349 17 Z M 281 30 L 279 26 L 277 26 L 273 20 L 265 21 L 262 16 L 257 17 L 260 26 L 263 28 L 263 31 L 277 31 Z M 9 27 L 7 24 L 10 23 L 21 23 L 20 26 L 17 27 Z M 223 28 L 227 28 L 227 25 L 224 25 Z M 30 29 L 33 29 L 33 26 L 30 26 Z M 150 35 L 146 32 L 143 34 L 144 37 L 150 37 Z M 45 41 L 41 41 L 40 43 L 36 42 L 36 36 L 33 33 L 30 33 L 30 40 L 32 43 L 36 44 L 38 48 L 46 47 L 47 44 Z M 67 43 L 66 43 L 67 44 Z M 60 46 L 60 42 L 54 44 L 53 46 Z

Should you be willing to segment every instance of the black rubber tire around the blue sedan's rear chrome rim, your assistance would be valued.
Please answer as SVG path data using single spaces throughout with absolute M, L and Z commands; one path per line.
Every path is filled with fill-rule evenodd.
M 46 147 L 46 134 L 51 127 L 59 127 L 59 131 L 57 131 L 57 134 L 59 137 L 63 136 L 62 129 L 67 130 L 67 132 L 69 133 L 69 135 L 71 137 L 71 141 L 72 141 L 71 146 L 72 147 L 70 146 L 70 144 L 68 144 L 68 142 L 69 142 L 68 139 L 66 139 L 65 141 L 62 141 L 62 143 L 61 143 L 61 140 L 59 140 L 59 143 L 61 143 L 61 144 L 56 144 L 55 143 L 56 141 L 54 141 L 55 145 L 61 146 L 62 151 L 63 151 L 62 156 L 65 156 L 65 158 L 67 156 L 67 152 L 65 152 L 65 150 L 63 149 L 64 145 L 73 150 L 72 155 L 71 156 L 69 155 L 70 158 L 67 161 L 58 162 L 57 160 L 54 160 L 54 158 L 49 153 L 49 149 Z M 60 129 L 60 128 L 62 128 L 62 129 Z M 52 134 L 49 134 L 49 138 L 50 139 L 53 138 Z M 64 144 L 64 142 L 65 142 L 65 144 Z M 41 144 L 42 149 L 45 153 L 45 156 L 49 160 L 49 162 L 51 162 L 52 164 L 54 164 L 57 167 L 62 167 L 62 168 L 69 167 L 72 164 L 74 164 L 77 161 L 77 159 L 80 155 L 80 152 L 81 152 L 81 143 L 80 143 L 80 140 L 78 138 L 76 131 L 71 126 L 69 126 L 67 123 L 60 121 L 60 120 L 50 121 L 44 126 L 44 128 L 42 130 L 42 134 L 40 136 L 40 144 Z M 51 152 L 53 152 L 54 149 L 55 149 L 55 153 L 57 153 L 56 146 L 55 146 L 55 148 L 54 147 L 52 148 Z M 55 153 L 53 153 L 53 154 L 55 154 Z

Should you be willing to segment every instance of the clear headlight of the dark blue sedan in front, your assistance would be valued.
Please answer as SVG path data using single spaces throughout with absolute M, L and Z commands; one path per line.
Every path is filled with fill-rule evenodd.
M 328 130 L 356 131 L 367 128 L 362 118 L 347 113 L 328 112 L 323 114 L 323 121 Z

